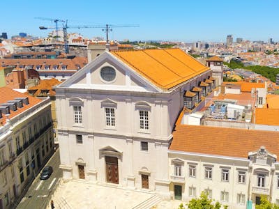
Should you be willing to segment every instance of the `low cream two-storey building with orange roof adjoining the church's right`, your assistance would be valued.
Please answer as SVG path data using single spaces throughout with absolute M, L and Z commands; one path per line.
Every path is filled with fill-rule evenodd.
M 202 191 L 229 208 L 252 208 L 260 196 L 279 203 L 278 132 L 183 125 L 179 117 L 169 147 L 173 199 Z

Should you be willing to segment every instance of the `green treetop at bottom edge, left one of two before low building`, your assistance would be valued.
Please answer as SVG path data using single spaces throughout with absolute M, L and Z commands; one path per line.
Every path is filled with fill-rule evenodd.
M 199 199 L 191 199 L 186 206 L 188 206 L 189 209 L 219 209 L 222 205 L 218 201 L 214 203 L 213 199 L 209 199 L 209 194 L 202 192 Z M 183 208 L 183 204 L 181 203 L 179 209 Z

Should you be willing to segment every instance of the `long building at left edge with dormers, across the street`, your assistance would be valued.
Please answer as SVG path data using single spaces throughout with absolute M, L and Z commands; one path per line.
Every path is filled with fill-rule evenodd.
M 50 98 L 0 95 L 0 208 L 13 208 L 53 153 Z

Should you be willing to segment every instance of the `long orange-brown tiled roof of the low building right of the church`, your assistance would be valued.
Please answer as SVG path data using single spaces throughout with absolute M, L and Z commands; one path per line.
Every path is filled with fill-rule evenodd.
M 204 125 L 176 125 L 169 150 L 227 157 L 248 157 L 260 146 L 279 156 L 278 132 Z

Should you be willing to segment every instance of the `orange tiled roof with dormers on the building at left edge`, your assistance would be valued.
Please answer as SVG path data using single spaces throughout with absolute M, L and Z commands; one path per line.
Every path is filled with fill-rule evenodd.
M 29 99 L 29 104 L 23 104 L 22 108 L 18 108 L 17 111 L 10 110 L 10 115 L 8 116 L 10 119 L 17 116 L 18 114 L 21 114 L 23 111 L 33 107 L 34 105 L 42 102 L 42 100 L 39 100 L 37 98 L 33 98 L 31 96 L 28 96 L 24 93 L 20 93 L 17 91 L 14 91 L 13 89 L 1 87 L 0 88 L 0 104 L 8 102 L 8 100 L 14 100 L 15 98 L 26 98 Z M 2 118 L 0 118 L 1 123 L 6 123 L 6 116 L 2 113 Z

